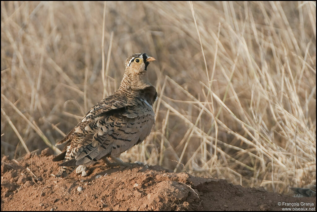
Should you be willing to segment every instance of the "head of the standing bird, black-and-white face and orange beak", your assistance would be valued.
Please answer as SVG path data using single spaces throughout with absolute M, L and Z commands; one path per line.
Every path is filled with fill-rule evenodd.
M 126 72 L 130 72 L 132 75 L 142 74 L 150 62 L 154 60 L 154 57 L 148 56 L 146 53 L 130 55 L 126 58 Z

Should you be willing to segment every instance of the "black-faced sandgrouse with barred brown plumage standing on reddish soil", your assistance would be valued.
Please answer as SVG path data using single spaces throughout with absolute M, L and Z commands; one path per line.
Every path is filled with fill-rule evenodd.
M 107 157 L 115 159 L 141 143 L 155 123 L 152 105 L 157 98 L 146 69 L 155 59 L 146 53 L 129 56 L 120 87 L 81 119 L 56 145 L 66 142 L 53 161 L 63 161 L 56 177 L 67 176 L 79 165 L 90 165 Z M 117 161 L 117 160 L 116 160 Z

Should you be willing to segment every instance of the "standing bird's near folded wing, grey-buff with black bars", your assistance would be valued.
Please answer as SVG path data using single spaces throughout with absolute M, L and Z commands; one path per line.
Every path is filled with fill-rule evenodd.
M 104 156 L 119 156 L 150 134 L 154 112 L 144 105 L 134 105 L 94 120 L 96 122 L 85 127 L 85 130 L 94 130 L 92 141 L 82 145 L 73 159 L 60 166 L 90 165 Z

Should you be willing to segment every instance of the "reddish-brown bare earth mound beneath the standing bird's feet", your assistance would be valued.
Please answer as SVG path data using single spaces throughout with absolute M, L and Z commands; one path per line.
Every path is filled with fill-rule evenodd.
M 20 160 L 1 160 L 1 210 L 281 210 L 278 202 L 314 202 L 226 180 L 175 173 L 160 166 L 135 164 L 88 167 L 55 178 L 58 163 L 44 149 Z

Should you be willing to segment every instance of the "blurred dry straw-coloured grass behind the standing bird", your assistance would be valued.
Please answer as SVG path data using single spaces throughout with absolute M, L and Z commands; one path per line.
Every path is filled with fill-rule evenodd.
M 316 179 L 315 2 L 1 2 L 1 155 L 54 149 L 136 52 L 157 59 L 156 125 L 123 160 L 275 192 Z

